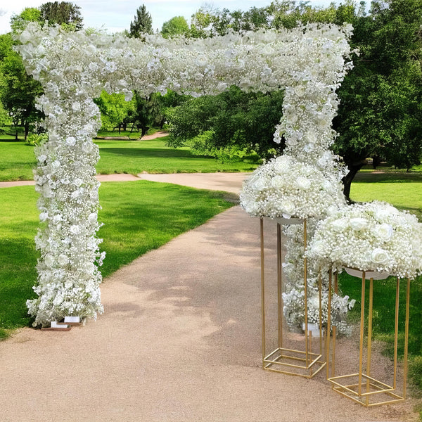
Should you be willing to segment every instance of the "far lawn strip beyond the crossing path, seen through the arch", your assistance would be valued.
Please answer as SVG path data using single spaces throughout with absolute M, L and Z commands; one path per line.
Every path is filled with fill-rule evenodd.
M 100 174 L 250 172 L 256 157 L 236 162 L 218 162 L 215 158 L 193 155 L 188 148 L 165 146 L 165 138 L 152 141 L 101 141 Z M 0 140 L 0 181 L 32 180 L 36 164 L 34 148 L 23 141 Z

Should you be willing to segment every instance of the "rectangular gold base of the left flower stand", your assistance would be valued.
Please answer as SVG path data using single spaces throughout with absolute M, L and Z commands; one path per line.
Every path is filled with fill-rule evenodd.
M 264 357 L 262 367 L 267 371 L 312 378 L 326 366 L 321 358 L 321 354 L 278 347 Z

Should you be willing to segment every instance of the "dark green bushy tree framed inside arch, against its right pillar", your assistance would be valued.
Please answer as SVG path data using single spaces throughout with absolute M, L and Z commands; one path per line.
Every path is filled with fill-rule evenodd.
M 253 150 L 268 158 L 283 148 L 273 141 L 282 106 L 282 91 L 245 93 L 231 87 L 218 96 L 192 98 L 169 115 L 170 144 L 211 155 Z

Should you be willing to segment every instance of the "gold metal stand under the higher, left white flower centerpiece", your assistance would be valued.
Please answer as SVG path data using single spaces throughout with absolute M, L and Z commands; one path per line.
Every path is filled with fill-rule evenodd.
M 264 285 L 264 218 L 260 219 L 261 229 L 261 307 L 262 307 L 262 368 L 267 371 L 286 373 L 288 375 L 312 378 L 326 362 L 322 360 L 322 318 L 321 318 L 321 279 L 319 280 L 319 353 L 312 352 L 312 331 L 308 331 L 307 322 L 307 260 L 304 258 L 304 293 L 305 293 L 305 350 L 294 350 L 283 347 L 283 288 L 282 288 L 282 224 L 303 224 L 304 245 L 307 245 L 306 219 L 277 218 L 277 326 L 278 347 L 267 354 L 265 333 L 265 285 Z

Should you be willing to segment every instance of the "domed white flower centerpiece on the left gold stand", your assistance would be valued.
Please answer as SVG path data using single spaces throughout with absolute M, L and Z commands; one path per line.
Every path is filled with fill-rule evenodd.
M 344 201 L 338 179 L 290 155 L 258 167 L 241 192 L 241 207 L 256 217 L 324 217 L 328 206 Z

